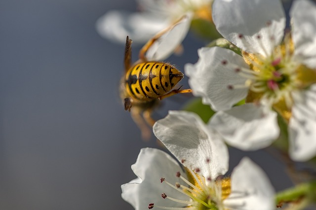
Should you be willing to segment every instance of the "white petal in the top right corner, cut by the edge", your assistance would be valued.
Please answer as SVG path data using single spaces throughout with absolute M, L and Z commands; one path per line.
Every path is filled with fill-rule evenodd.
M 310 0 L 296 0 L 290 15 L 293 21 L 294 53 L 307 66 L 316 68 L 316 4 Z

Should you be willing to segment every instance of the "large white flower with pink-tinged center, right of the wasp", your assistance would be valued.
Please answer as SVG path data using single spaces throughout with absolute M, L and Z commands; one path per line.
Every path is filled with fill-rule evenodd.
M 229 144 L 243 150 L 270 145 L 279 133 L 274 109 L 288 122 L 291 158 L 306 161 L 316 155 L 316 5 L 296 0 L 290 16 L 292 32 L 284 36 L 280 1 L 215 0 L 214 24 L 242 57 L 228 49 L 202 48 L 185 73 L 193 93 L 221 110 L 210 124 Z M 231 109 L 242 99 L 253 104 Z M 261 117 L 248 113 L 249 106 Z

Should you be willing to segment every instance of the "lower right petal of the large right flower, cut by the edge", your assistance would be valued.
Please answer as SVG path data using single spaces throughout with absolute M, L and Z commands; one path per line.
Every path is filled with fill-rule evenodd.
M 288 125 L 290 157 L 307 161 L 316 155 L 316 85 L 293 93 L 294 106 Z

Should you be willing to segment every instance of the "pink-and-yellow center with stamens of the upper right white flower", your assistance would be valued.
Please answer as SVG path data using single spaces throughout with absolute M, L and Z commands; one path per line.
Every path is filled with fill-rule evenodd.
M 243 35 L 239 36 L 241 39 Z M 262 37 L 257 36 L 260 42 Z M 274 41 L 274 39 L 271 39 Z M 262 44 L 264 48 L 264 45 Z M 269 56 L 242 52 L 243 60 L 249 68 L 233 66 L 226 60 L 222 64 L 230 64 L 236 72 L 246 78 L 243 85 L 229 86 L 234 88 L 249 88 L 246 102 L 264 103 L 273 107 L 285 120 L 291 116 L 293 98 L 291 92 L 302 90 L 316 82 L 316 71 L 307 68 L 294 56 L 294 45 L 287 33 L 282 44 L 277 45 Z

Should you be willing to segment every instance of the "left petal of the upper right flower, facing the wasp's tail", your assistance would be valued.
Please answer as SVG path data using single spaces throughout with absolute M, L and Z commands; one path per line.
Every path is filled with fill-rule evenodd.
M 227 110 L 246 97 L 248 88 L 228 88 L 246 81 L 236 72 L 237 68 L 249 68 L 239 55 L 220 47 L 204 47 L 197 53 L 197 63 L 188 63 L 184 69 L 193 94 L 201 96 L 204 104 L 216 111 Z M 223 65 L 223 60 L 227 64 Z

